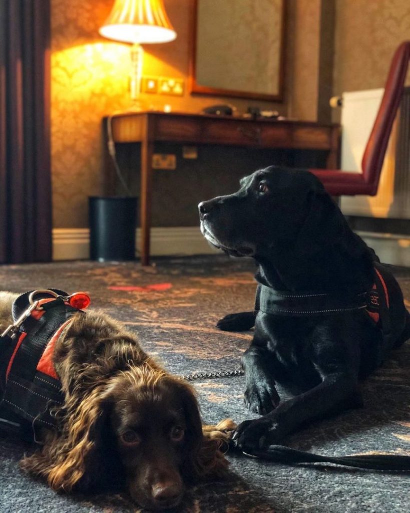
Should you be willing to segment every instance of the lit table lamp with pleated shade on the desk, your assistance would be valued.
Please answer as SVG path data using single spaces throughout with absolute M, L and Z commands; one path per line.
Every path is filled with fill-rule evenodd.
M 139 108 L 142 59 L 141 44 L 168 43 L 176 32 L 165 12 L 162 0 L 115 0 L 99 33 L 122 43 L 131 43 L 131 98 Z

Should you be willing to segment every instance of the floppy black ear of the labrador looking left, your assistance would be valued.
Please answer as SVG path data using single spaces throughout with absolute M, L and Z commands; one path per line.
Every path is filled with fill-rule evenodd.
M 295 244 L 298 253 L 310 257 L 343 239 L 346 222 L 339 207 L 325 190 L 309 191 L 305 212 Z

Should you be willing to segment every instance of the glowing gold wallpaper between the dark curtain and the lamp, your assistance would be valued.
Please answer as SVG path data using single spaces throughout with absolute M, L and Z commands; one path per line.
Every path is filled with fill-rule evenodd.
M 98 37 L 104 0 L 52 0 L 53 226 L 85 227 L 100 193 L 101 117 L 127 107 L 129 51 Z

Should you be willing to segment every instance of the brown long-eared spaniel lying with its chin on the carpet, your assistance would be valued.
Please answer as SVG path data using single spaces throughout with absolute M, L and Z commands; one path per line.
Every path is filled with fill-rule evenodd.
M 0 328 L 14 294 L 0 293 Z M 1 331 L 0 331 L 1 332 Z M 75 314 L 54 366 L 65 396 L 58 430 L 21 465 L 59 491 L 126 486 L 150 509 L 174 507 L 184 484 L 223 475 L 233 423 L 202 426 L 193 388 L 163 370 L 135 334 L 100 313 Z

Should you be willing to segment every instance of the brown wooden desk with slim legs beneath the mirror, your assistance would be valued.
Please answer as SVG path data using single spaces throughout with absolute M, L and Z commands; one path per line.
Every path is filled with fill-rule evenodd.
M 338 166 L 340 127 L 304 121 L 251 120 L 231 116 L 129 112 L 112 116 L 115 143 L 141 144 L 141 263 L 150 262 L 152 154 L 154 143 L 233 145 L 256 148 L 310 149 L 329 152 L 326 167 Z M 109 169 L 109 166 L 106 166 Z M 106 176 L 105 192 L 113 192 L 113 173 Z

